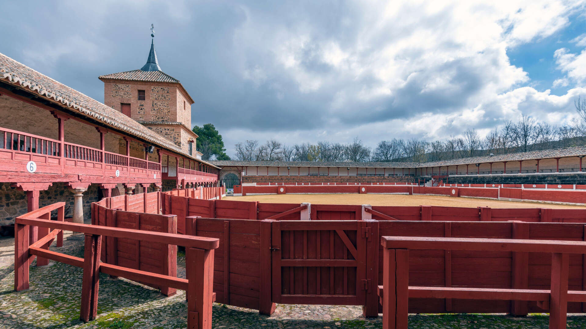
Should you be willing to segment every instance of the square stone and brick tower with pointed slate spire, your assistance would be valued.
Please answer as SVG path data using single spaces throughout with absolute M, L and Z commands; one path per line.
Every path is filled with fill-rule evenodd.
M 104 104 L 195 156 L 197 135 L 190 129 L 193 99 L 179 80 L 161 70 L 151 36 L 151 50 L 142 68 L 99 77 L 104 82 Z

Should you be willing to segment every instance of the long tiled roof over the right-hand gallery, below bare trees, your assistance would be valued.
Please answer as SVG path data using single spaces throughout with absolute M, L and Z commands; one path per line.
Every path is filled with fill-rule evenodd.
M 493 156 L 475 156 L 464 157 L 462 159 L 441 160 L 434 162 L 420 163 L 418 167 L 438 167 L 438 166 L 457 166 L 473 165 L 475 163 L 503 162 L 503 161 L 524 161 L 537 159 L 553 159 L 556 157 L 586 156 L 586 146 L 576 146 L 574 148 L 540 150 L 531 152 L 518 152 Z

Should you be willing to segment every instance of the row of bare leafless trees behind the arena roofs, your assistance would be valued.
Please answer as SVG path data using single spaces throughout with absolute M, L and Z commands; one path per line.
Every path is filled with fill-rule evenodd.
M 429 162 L 462 157 L 499 155 L 568 148 L 586 144 L 586 100 L 578 98 L 575 107 L 582 121 L 554 126 L 523 115 L 519 121 L 507 121 L 485 138 L 476 129 L 467 129 L 461 137 L 428 142 L 421 139 L 381 140 L 371 149 L 355 138 L 352 143 L 318 142 L 292 146 L 271 139 L 264 144 L 246 140 L 235 146 L 237 160 L 253 161 L 330 161 L 330 162 Z

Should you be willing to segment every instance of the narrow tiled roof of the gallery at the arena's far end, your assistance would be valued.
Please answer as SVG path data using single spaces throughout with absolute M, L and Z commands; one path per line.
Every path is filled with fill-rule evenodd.
M 208 160 L 219 167 L 250 166 L 250 167 L 350 167 L 350 168 L 415 168 L 415 162 L 318 162 L 318 161 L 240 161 L 240 160 Z

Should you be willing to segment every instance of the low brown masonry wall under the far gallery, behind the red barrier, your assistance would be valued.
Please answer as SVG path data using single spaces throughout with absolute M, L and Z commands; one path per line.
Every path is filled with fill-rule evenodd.
M 242 183 L 394 183 L 413 181 L 410 176 L 243 176 Z

